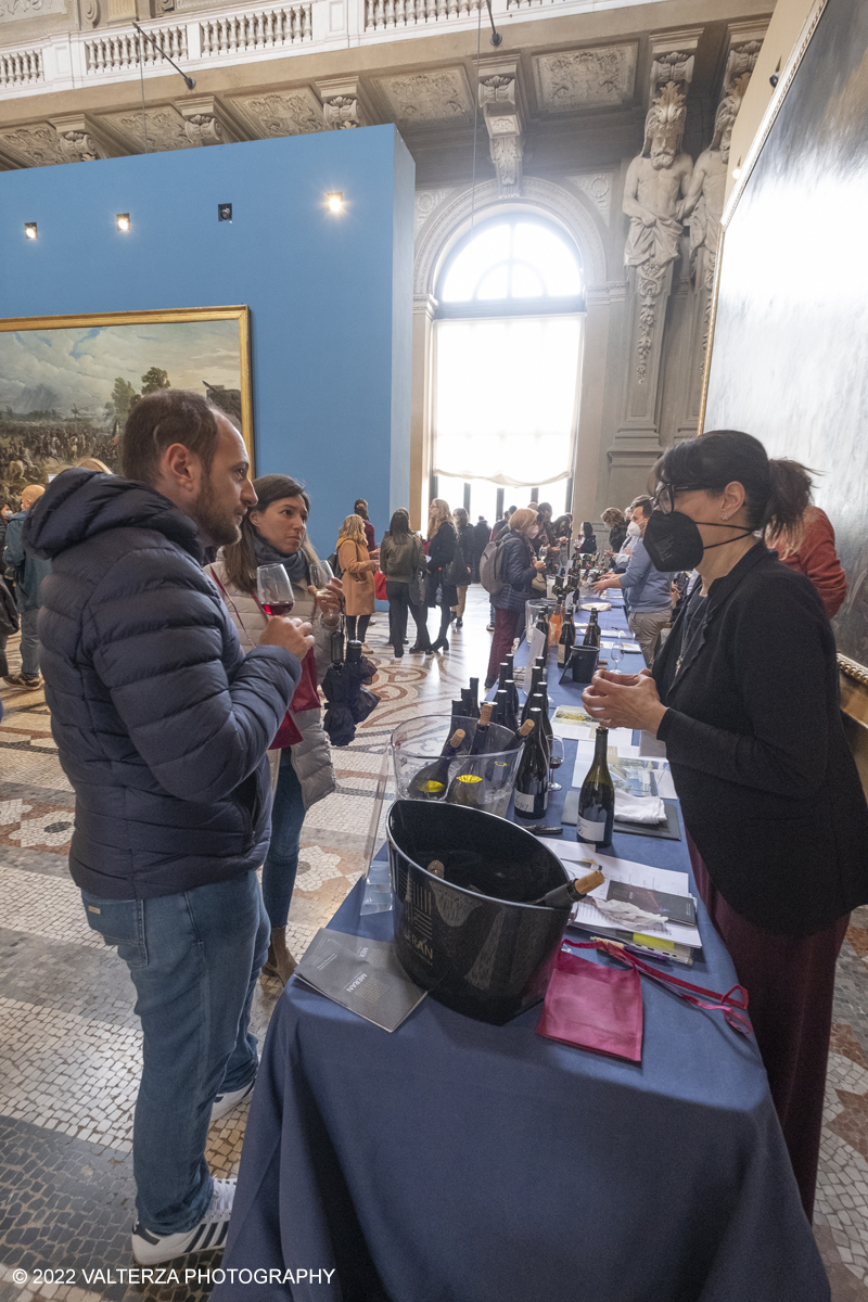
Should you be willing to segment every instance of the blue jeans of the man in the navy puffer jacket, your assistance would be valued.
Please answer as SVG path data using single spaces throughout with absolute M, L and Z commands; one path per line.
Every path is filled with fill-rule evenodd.
M 133 1126 L 139 1221 L 154 1234 L 198 1225 L 211 1202 L 204 1159 L 215 1095 L 256 1074 L 250 1005 L 268 953 L 255 872 L 156 900 L 82 891 L 85 917 L 130 970 L 143 1066 Z

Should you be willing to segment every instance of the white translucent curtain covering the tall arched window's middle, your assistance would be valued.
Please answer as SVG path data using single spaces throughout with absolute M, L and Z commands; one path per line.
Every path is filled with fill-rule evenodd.
M 583 318 L 436 323 L 435 474 L 504 487 L 573 473 Z

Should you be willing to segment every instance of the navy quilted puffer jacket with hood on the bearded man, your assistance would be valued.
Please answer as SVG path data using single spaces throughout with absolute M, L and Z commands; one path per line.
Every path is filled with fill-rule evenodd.
M 52 560 L 40 668 L 75 790 L 83 891 L 176 894 L 262 863 L 265 749 L 301 677 L 282 647 L 245 658 L 194 522 L 141 483 L 65 470 L 29 512 Z

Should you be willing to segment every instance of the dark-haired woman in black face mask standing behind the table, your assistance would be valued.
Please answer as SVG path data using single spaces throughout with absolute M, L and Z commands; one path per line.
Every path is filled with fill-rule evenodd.
M 868 809 L 845 740 L 822 603 L 757 535 L 804 510 L 747 434 L 712 431 L 656 466 L 644 542 L 701 575 L 653 677 L 597 673 L 601 723 L 666 742 L 696 885 L 750 1013 L 811 1216 L 835 960 L 868 900 Z

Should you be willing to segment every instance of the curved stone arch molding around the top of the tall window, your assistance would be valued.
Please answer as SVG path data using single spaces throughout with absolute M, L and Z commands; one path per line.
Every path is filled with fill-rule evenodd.
M 591 201 L 584 195 L 566 190 L 553 181 L 526 176 L 521 199 L 511 199 L 509 206 L 526 207 L 528 211 L 554 217 L 570 232 L 579 247 L 586 285 L 591 288 L 606 283 L 605 247 L 597 225 L 600 217 L 592 211 Z M 479 223 L 502 211 L 497 181 L 478 185 L 475 197 L 472 187 L 466 186 L 454 191 L 452 199 L 439 204 L 419 232 L 414 263 L 414 294 L 433 294 L 442 256 L 463 234 L 471 214 Z

